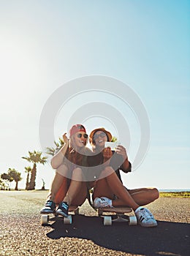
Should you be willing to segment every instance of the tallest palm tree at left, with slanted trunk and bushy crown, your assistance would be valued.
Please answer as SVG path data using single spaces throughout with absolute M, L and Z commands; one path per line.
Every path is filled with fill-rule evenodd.
M 29 156 L 28 157 L 22 157 L 23 159 L 26 159 L 28 162 L 32 162 L 33 163 L 33 167 L 31 170 L 31 179 L 29 182 L 29 186 L 27 190 L 33 190 L 35 189 L 36 186 L 36 176 L 37 176 L 37 164 L 42 164 L 45 165 L 45 163 L 47 162 L 47 157 L 42 157 L 42 152 L 41 151 L 35 151 L 31 152 L 28 151 Z

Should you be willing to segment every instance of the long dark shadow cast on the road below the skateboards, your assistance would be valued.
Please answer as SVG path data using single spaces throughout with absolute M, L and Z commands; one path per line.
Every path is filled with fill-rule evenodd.
M 190 225 L 178 222 L 158 222 L 158 227 L 129 226 L 113 223 L 104 226 L 101 217 L 75 215 L 72 225 L 62 219 L 52 222 L 53 230 L 47 233 L 52 239 L 61 237 L 83 238 L 107 249 L 134 255 L 190 255 Z

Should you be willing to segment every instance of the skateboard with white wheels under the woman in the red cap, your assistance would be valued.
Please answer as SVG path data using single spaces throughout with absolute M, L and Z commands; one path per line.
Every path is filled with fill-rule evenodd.
M 48 224 L 50 220 L 56 220 L 55 218 L 62 218 L 64 220 L 64 224 L 72 224 L 72 215 L 75 214 L 79 214 L 79 206 L 69 206 L 68 217 L 56 214 L 56 212 L 53 214 L 42 214 L 41 225 Z M 53 216 L 54 218 L 50 218 L 50 216 Z

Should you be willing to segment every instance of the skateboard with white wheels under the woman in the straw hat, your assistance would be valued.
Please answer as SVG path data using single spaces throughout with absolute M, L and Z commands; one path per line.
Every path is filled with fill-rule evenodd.
M 98 215 L 103 217 L 104 226 L 110 226 L 113 222 L 129 222 L 129 225 L 137 225 L 137 217 L 129 216 L 132 208 L 129 207 L 113 207 L 113 208 L 97 208 Z

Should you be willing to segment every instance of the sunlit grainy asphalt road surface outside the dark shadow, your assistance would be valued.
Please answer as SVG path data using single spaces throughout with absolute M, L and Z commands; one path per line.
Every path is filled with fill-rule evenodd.
M 72 225 L 40 225 L 47 191 L 0 191 L 0 255 L 190 255 L 190 198 L 162 197 L 148 208 L 158 227 L 104 226 L 88 201 Z

